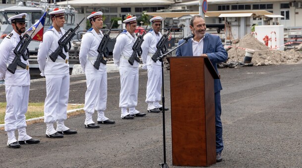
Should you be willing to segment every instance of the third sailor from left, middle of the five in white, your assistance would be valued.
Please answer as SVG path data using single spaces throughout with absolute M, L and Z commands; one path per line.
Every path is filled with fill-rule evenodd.
M 98 112 L 98 124 L 115 124 L 114 121 L 105 117 L 107 103 L 107 68 L 101 63 L 99 70 L 94 67 L 98 58 L 98 47 L 103 38 L 100 29 L 103 27 L 102 12 L 92 12 L 87 17 L 90 20 L 92 28 L 87 31 L 81 41 L 80 63 L 85 71 L 87 90 L 85 94 L 85 127 L 99 128 L 92 120 L 95 110 Z M 105 58 L 103 58 L 105 59 Z

